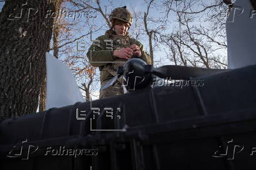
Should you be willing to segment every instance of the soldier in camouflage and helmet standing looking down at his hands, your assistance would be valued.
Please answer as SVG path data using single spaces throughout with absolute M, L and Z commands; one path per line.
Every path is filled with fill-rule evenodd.
M 107 30 L 105 35 L 93 40 L 93 45 L 90 46 L 86 54 L 90 64 L 99 67 L 101 86 L 116 76 L 117 66 L 122 66 L 124 62 L 133 57 L 139 57 L 147 64 L 152 64 L 142 43 L 130 38 L 127 32 L 132 25 L 132 13 L 126 9 L 126 6 L 114 9 L 109 19 L 112 28 Z M 119 94 L 123 94 L 122 80 L 120 79 L 113 86 L 100 90 L 99 98 Z

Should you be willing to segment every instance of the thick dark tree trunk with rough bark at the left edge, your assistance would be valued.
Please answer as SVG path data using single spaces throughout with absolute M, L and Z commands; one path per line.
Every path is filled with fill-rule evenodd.
M 0 13 L 0 118 L 36 112 L 56 12 L 50 0 L 6 1 Z

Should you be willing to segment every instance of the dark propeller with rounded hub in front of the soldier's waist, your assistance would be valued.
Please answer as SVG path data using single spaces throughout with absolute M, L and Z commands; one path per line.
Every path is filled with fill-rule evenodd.
M 200 67 L 186 67 L 167 65 L 155 68 L 148 65 L 142 59 L 134 57 L 117 68 L 116 76 L 107 81 L 100 90 L 113 86 L 113 84 L 123 77 L 122 86 L 124 93 L 144 89 L 149 87 L 157 77 L 165 79 L 171 77 L 173 80 L 190 80 L 194 77 L 206 76 L 227 71 L 227 69 L 204 69 Z

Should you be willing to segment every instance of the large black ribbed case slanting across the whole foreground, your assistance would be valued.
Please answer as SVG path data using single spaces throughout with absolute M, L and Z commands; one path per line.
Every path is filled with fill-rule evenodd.
M 248 66 L 198 77 L 204 86 L 148 87 L 1 120 L 0 169 L 253 168 L 255 75 L 256 66 Z M 48 147 L 63 146 L 97 155 L 45 155 Z M 21 147 L 20 156 L 6 156 Z

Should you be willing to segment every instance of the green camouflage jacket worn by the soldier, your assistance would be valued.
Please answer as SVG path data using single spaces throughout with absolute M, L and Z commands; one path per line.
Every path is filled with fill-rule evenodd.
M 140 56 L 140 58 L 147 64 L 152 64 L 150 56 L 145 52 L 142 43 L 136 39 L 130 38 L 128 34 L 125 36 L 116 35 L 112 30 L 107 30 L 105 35 L 99 36 L 96 40 L 93 40 L 93 44 L 89 47 L 86 55 L 92 66 L 99 67 L 101 84 L 103 81 L 111 79 L 116 72 L 117 66 L 123 65 L 126 61 L 124 59 L 114 57 L 113 50 L 118 47 L 130 47 L 130 45 L 133 44 L 140 47 L 140 51 L 142 52 L 142 56 Z

